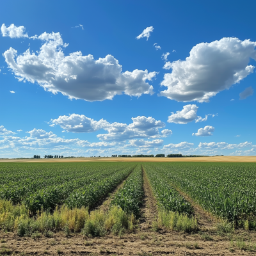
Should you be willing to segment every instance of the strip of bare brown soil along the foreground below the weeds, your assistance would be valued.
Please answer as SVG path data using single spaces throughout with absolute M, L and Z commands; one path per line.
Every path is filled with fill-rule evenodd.
M 211 237 L 205 240 L 203 235 Z M 237 237 L 243 237 L 250 250 L 237 248 Z M 230 240 L 234 239 L 231 245 Z M 251 240 L 251 242 L 250 242 Z M 255 232 L 237 230 L 234 234 L 218 235 L 216 232 L 182 234 L 181 232 L 139 231 L 123 237 L 111 236 L 88 238 L 81 234 L 65 237 L 61 232 L 52 238 L 18 237 L 17 234 L 0 232 L 2 255 L 256 255 L 252 245 Z M 0 253 L 1 255 L 1 253 Z

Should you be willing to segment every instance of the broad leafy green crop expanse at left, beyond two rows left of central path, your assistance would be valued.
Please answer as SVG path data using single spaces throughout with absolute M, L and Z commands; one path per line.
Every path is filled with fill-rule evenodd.
M 76 189 L 130 169 L 131 163 L 0 164 L 0 198 L 23 202 L 33 214 L 54 209 Z M 1 211 L 1 210 L 0 210 Z

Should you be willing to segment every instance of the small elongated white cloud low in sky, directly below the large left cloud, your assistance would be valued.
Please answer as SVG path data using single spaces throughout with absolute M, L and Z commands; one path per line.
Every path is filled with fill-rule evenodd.
M 107 127 L 109 123 L 103 119 L 95 121 L 84 115 L 72 114 L 52 119 L 51 126 L 54 125 L 60 125 L 60 127 L 67 132 L 95 132 Z

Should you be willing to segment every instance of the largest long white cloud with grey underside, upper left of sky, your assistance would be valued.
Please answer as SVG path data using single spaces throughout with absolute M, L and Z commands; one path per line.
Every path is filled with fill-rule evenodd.
M 17 55 L 12 47 L 3 54 L 19 81 L 38 83 L 54 94 L 88 101 L 113 99 L 122 93 L 136 97 L 153 94 L 153 86 L 147 81 L 152 81 L 157 72 L 122 72 L 122 66 L 111 55 L 99 60 L 79 51 L 65 56 L 62 50 L 68 44 L 63 43 L 60 33 L 45 32 L 35 38 L 44 42 L 37 54 L 28 49 Z

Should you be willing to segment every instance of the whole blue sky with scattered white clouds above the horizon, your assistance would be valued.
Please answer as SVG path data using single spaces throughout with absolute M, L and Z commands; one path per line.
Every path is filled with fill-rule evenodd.
M 255 1 L 3 1 L 0 158 L 256 154 Z

